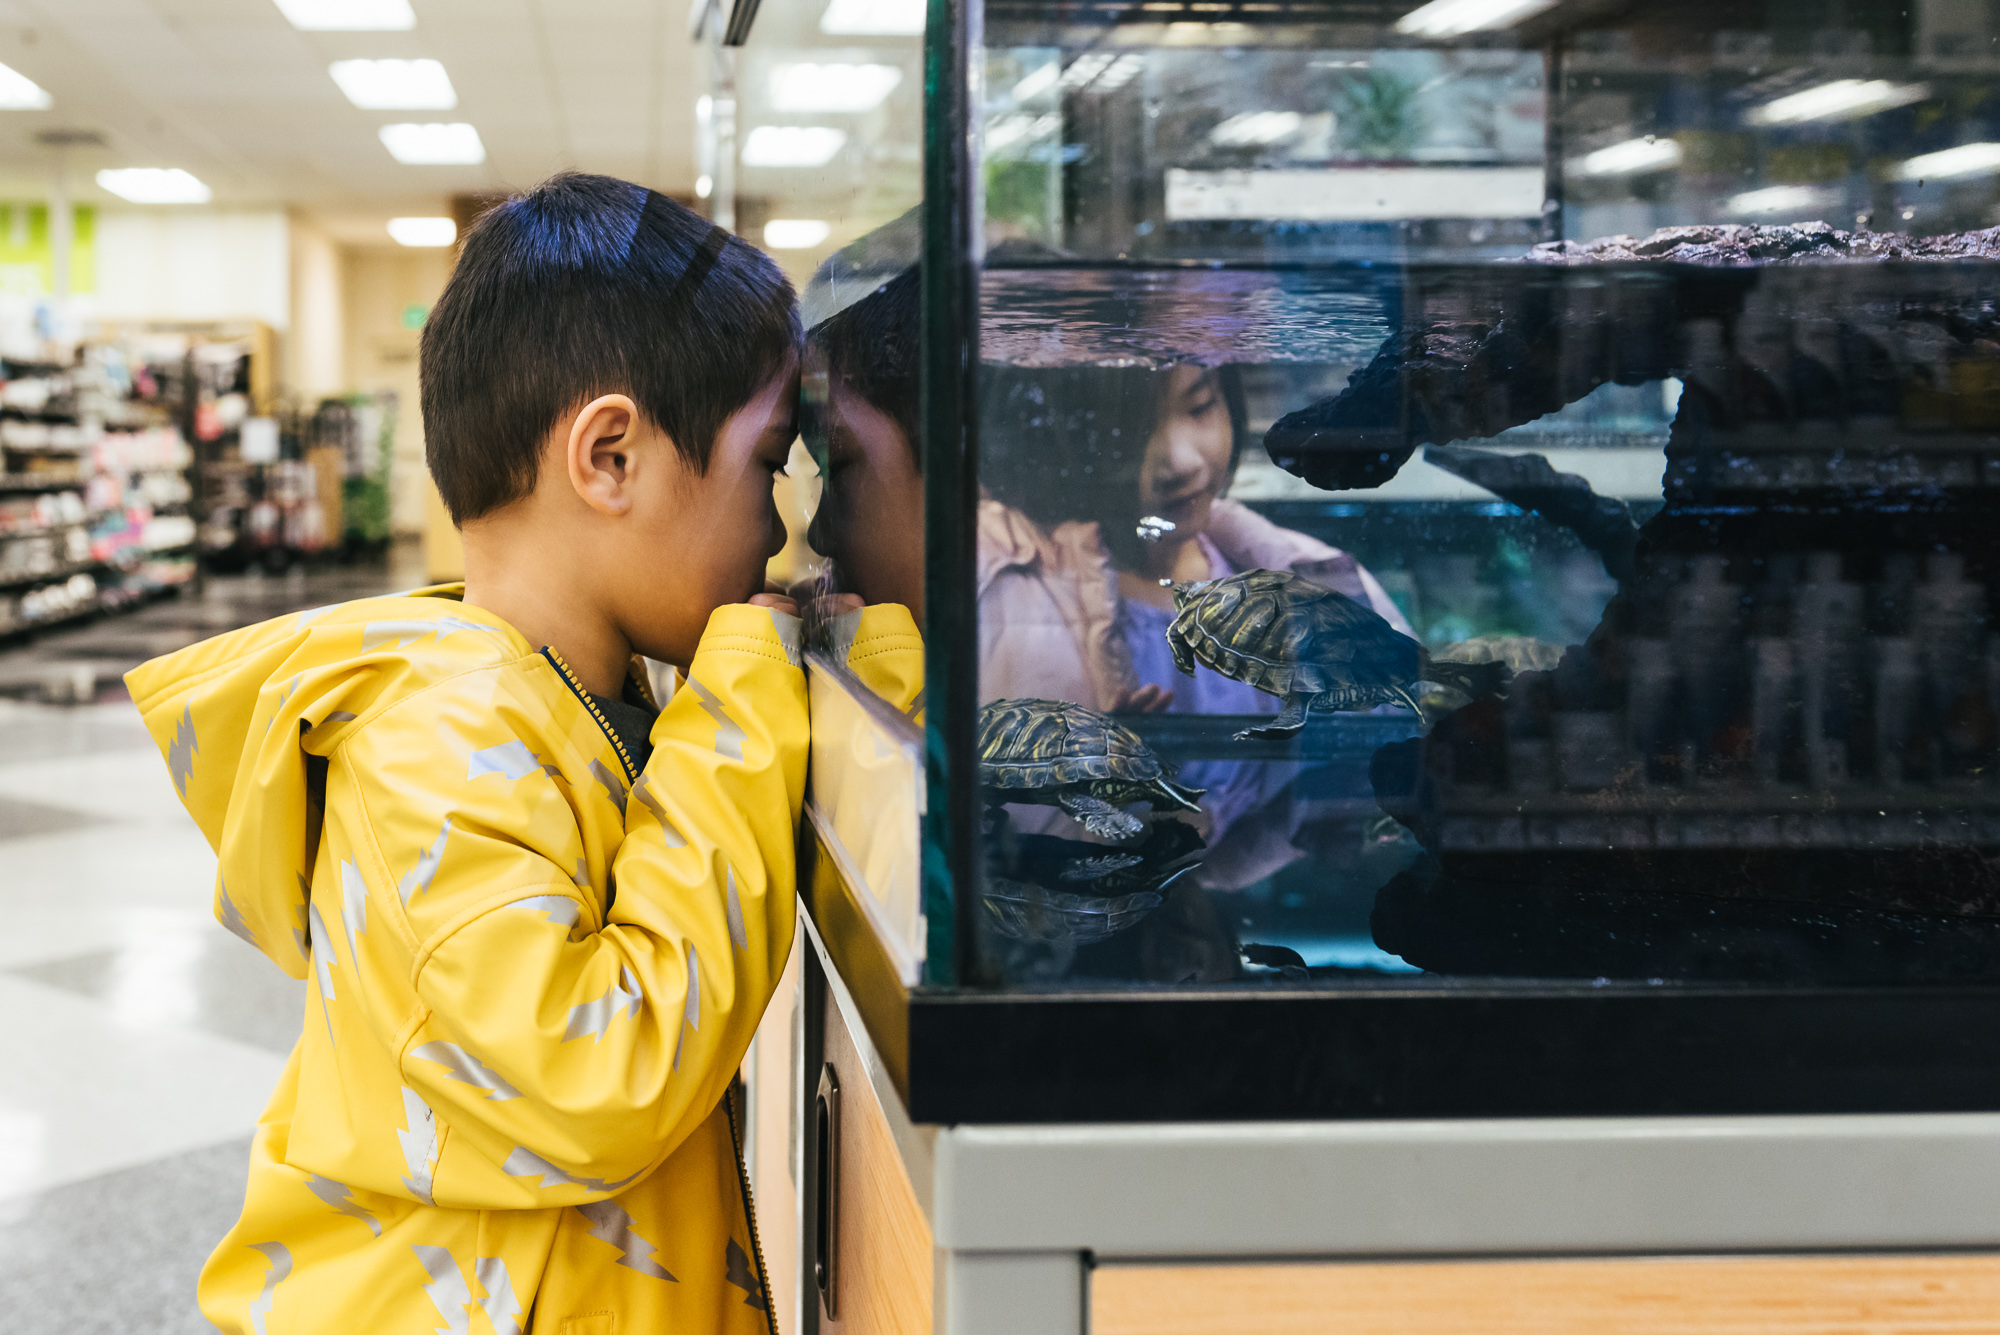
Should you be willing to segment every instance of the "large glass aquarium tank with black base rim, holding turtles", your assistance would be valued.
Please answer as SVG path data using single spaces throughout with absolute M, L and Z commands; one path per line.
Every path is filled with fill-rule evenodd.
M 818 264 L 806 366 L 822 592 L 926 650 L 818 668 L 910 763 L 834 861 L 912 1071 L 1992 1105 L 1988 6 L 906 24 L 920 198 Z

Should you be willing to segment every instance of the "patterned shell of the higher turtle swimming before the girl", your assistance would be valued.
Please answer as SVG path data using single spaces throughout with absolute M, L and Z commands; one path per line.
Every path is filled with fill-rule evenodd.
M 1168 640 L 1270 695 L 1372 695 L 1416 681 L 1416 640 L 1366 604 L 1292 572 L 1246 570 L 1174 596 Z

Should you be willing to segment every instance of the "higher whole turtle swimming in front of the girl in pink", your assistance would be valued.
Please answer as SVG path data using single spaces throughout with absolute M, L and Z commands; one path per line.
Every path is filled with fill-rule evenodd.
M 1220 580 L 1176 584 L 1166 628 L 1174 666 L 1194 675 L 1206 664 L 1224 677 L 1284 699 L 1250 737 L 1290 737 L 1306 711 L 1372 709 L 1402 703 L 1422 713 L 1410 687 L 1436 681 L 1468 695 L 1506 683 L 1506 664 L 1432 662 L 1416 640 L 1372 608 L 1288 570 L 1246 570 Z

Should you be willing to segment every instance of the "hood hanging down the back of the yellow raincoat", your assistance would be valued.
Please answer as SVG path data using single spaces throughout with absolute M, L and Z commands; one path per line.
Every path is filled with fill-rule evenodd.
M 294 612 L 126 673 L 174 791 L 216 851 L 216 919 L 306 977 L 326 757 L 434 681 L 534 654 L 444 584 Z

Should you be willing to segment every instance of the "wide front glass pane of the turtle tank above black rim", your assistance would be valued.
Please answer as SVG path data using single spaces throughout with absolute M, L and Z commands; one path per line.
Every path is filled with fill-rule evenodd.
M 984 6 L 976 977 L 2000 969 L 2000 30 L 1530 10 Z

